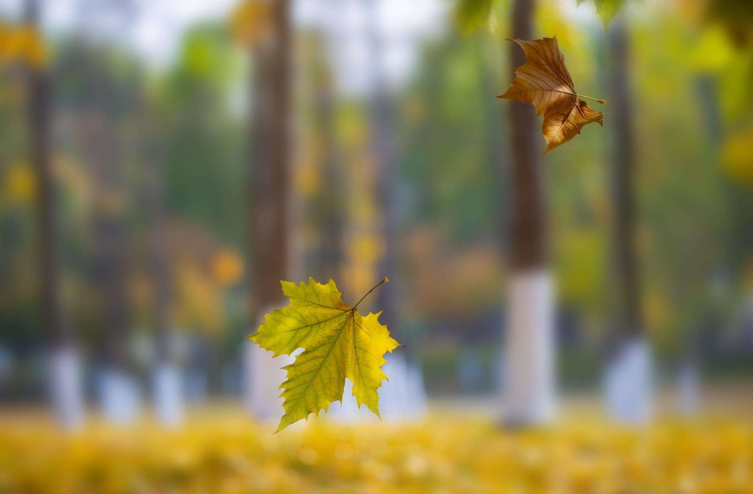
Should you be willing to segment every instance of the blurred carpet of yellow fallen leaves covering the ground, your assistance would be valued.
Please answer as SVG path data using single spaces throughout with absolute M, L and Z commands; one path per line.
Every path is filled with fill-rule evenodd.
M 271 435 L 232 413 L 156 425 L 0 422 L 0 492 L 753 492 L 749 419 L 628 430 L 582 423 L 301 423 Z

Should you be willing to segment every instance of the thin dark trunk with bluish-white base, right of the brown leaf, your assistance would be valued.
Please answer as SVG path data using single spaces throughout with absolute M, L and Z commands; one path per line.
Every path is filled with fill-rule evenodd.
M 611 343 L 608 356 L 607 401 L 620 422 L 647 420 L 651 413 L 651 370 L 641 314 L 636 252 L 635 133 L 630 93 L 630 40 L 623 19 L 608 31 L 611 67 L 611 121 L 614 132 L 612 193 L 614 194 Z

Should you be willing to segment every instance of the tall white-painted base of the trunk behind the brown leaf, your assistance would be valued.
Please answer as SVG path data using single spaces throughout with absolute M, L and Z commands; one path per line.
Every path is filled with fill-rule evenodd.
M 519 425 L 555 415 L 554 289 L 548 270 L 511 276 L 502 362 L 502 419 Z

